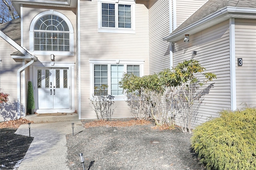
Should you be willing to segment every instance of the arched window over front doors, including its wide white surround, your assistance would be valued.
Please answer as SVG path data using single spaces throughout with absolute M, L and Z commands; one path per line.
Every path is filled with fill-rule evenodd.
M 33 39 L 33 41 L 31 41 Z M 54 10 L 38 14 L 30 25 L 30 51 L 48 55 L 74 55 L 74 30 L 70 20 Z

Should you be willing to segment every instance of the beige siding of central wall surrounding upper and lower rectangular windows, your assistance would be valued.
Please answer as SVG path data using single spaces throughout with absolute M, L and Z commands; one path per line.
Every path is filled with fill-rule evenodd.
M 149 73 L 148 66 L 148 2 L 136 0 L 135 30 L 136 34 L 99 33 L 98 32 L 98 2 L 80 1 L 81 12 L 81 118 L 95 119 L 96 114 L 90 108 L 90 71 L 89 59 L 144 61 L 141 68 L 144 75 Z M 118 62 L 117 62 L 118 63 Z M 136 64 L 136 63 L 133 63 Z M 127 103 L 114 98 L 114 118 L 133 117 Z

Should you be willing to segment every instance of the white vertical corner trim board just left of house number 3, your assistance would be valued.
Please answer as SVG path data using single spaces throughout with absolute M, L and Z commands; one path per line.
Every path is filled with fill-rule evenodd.
M 230 101 L 231 110 L 236 110 L 236 47 L 235 47 L 235 19 L 229 19 L 230 44 Z

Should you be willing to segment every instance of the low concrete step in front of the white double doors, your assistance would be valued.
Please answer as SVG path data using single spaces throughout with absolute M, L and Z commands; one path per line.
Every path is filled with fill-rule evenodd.
M 55 121 L 76 121 L 79 120 L 77 113 L 66 113 L 66 115 L 49 115 L 45 116 L 40 114 L 26 115 L 24 119 L 34 121 L 34 123 L 44 123 L 44 122 L 55 122 Z

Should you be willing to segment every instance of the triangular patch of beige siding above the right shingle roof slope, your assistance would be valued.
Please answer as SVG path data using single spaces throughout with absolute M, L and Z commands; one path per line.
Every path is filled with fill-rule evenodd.
M 172 0 L 176 1 L 177 27 L 198 10 L 207 0 Z

